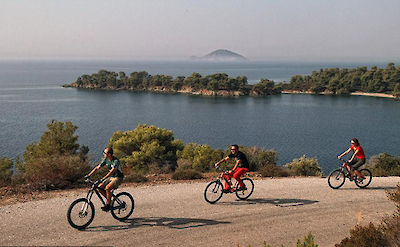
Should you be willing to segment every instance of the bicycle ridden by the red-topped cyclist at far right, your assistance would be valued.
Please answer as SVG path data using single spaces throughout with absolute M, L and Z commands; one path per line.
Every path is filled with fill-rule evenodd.
M 344 182 L 346 181 L 346 178 L 348 178 L 350 181 L 354 181 L 354 183 L 359 188 L 365 188 L 371 183 L 372 173 L 370 170 L 368 170 L 367 168 L 361 169 L 359 170 L 359 172 L 361 172 L 364 178 L 359 178 L 357 175 L 355 175 L 354 179 L 352 179 L 350 172 L 347 170 L 345 166 L 348 165 L 349 162 L 343 159 L 340 160 L 343 161 L 343 165 L 333 170 L 329 174 L 328 177 L 329 187 L 331 187 L 332 189 L 339 189 L 340 187 L 343 186 Z

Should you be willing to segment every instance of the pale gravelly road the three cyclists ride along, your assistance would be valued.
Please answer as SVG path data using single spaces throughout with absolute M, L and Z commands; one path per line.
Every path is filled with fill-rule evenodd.
M 373 178 L 368 189 L 346 181 L 331 189 L 326 178 L 255 180 L 247 201 L 225 194 L 214 204 L 206 182 L 121 187 L 135 198 L 129 220 L 100 210 L 85 231 L 69 226 L 68 206 L 85 193 L 0 207 L 0 246 L 295 246 L 311 232 L 319 246 L 334 246 L 357 224 L 379 223 L 395 210 L 385 190 L 399 177 Z

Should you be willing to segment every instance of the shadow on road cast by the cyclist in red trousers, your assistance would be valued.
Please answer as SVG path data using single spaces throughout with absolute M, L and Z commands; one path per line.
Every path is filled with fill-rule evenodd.
M 236 200 L 235 202 L 221 202 L 221 204 L 228 205 L 243 205 L 243 204 L 272 204 L 278 207 L 297 207 L 304 206 L 308 204 L 317 203 L 318 201 L 312 201 L 307 199 L 248 199 L 245 201 Z

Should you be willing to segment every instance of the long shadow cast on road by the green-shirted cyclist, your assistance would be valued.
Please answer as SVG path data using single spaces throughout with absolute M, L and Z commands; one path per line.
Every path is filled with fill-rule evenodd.
M 152 226 L 163 226 L 172 229 L 188 229 L 202 226 L 219 225 L 219 224 L 230 224 L 227 221 L 217 221 L 208 219 L 195 219 L 195 218 L 166 218 L 166 217 L 148 217 L 148 218 L 132 218 L 125 220 L 124 225 L 115 226 L 96 226 L 88 227 L 84 231 L 118 231 L 127 230 L 138 227 L 152 227 Z

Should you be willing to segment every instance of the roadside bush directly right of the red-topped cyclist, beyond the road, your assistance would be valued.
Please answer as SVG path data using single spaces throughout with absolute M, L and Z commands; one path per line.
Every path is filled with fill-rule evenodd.
M 400 176 L 400 158 L 387 153 L 372 156 L 368 166 L 374 176 Z

